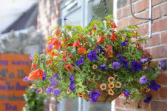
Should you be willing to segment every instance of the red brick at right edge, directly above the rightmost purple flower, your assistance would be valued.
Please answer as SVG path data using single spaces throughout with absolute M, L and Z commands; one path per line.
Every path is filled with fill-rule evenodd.
M 164 58 L 167 57 L 167 45 L 152 48 L 153 58 Z

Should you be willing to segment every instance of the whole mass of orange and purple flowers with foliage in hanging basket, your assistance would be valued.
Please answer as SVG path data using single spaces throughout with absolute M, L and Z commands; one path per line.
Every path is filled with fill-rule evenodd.
M 104 95 L 110 98 L 122 93 L 130 100 L 142 98 L 145 91 L 157 91 L 161 87 L 155 82 L 158 65 L 165 64 L 153 62 L 140 46 L 147 39 L 137 34 L 136 26 L 116 32 L 112 17 L 105 19 L 85 28 L 56 27 L 47 38 L 46 53 L 30 56 L 31 73 L 23 80 L 32 81 L 36 93 L 58 99 L 78 96 L 88 100 L 88 95 L 92 102 Z M 144 101 L 150 100 L 146 96 Z

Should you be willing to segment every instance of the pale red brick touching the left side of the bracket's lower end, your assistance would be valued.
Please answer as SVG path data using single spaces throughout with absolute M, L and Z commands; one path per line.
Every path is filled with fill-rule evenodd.
M 138 31 L 138 34 L 141 36 L 147 35 L 148 34 L 148 24 L 139 26 L 137 31 Z

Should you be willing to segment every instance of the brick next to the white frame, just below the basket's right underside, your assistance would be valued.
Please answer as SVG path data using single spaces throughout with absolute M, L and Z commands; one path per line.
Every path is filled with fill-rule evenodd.
M 131 109 L 134 108 L 134 104 L 135 104 L 135 103 L 134 103 L 133 100 L 130 101 L 130 104 L 124 105 L 124 103 L 125 103 L 125 98 L 117 98 L 117 99 L 115 100 L 115 105 L 116 105 L 116 106 L 124 107 L 124 108 L 131 108 Z

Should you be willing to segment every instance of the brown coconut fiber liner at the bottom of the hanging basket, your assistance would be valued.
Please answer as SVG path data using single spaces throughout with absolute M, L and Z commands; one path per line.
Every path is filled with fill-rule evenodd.
M 87 81 L 85 85 L 92 85 L 92 84 L 93 84 L 92 82 Z M 90 91 L 99 91 L 101 93 L 101 95 L 97 99 L 97 102 L 99 103 L 111 102 L 121 94 L 120 92 L 114 92 L 114 95 L 109 95 L 108 94 L 109 88 L 106 88 L 106 90 L 101 90 L 100 89 L 101 84 L 102 82 L 97 82 L 95 85 L 95 90 L 90 89 Z M 88 94 L 88 92 L 86 92 L 83 96 L 85 100 L 87 101 L 90 100 L 90 94 Z

